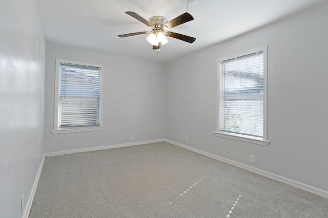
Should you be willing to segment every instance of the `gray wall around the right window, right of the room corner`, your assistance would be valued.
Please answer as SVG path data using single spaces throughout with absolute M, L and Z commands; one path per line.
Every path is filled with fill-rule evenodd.
M 328 191 L 327 20 L 324 5 L 169 63 L 166 138 Z M 216 60 L 261 45 L 268 45 L 266 147 L 214 135 Z

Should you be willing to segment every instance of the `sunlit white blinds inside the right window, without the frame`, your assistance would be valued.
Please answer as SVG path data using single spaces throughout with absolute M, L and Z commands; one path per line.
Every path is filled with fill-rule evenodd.
M 221 62 L 221 131 L 263 136 L 263 60 L 260 51 Z

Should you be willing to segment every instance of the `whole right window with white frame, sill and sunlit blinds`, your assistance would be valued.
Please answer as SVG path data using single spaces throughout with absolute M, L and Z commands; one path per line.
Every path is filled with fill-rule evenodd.
M 267 145 L 267 47 L 218 60 L 216 135 Z

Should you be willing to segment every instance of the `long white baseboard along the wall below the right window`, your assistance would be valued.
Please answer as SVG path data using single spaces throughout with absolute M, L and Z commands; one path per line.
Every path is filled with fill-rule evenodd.
M 233 161 L 233 160 L 229 160 L 229 159 L 224 158 L 224 157 L 220 157 L 220 156 L 208 153 L 208 152 L 204 152 L 204 151 L 201 151 L 199 149 L 195 149 L 195 148 L 186 146 L 185 144 L 181 144 L 181 143 L 171 141 L 171 140 L 168 140 L 168 139 L 165 139 L 165 141 L 169 142 L 171 144 L 175 144 L 176 146 L 188 149 L 190 151 L 197 152 L 199 154 L 206 155 L 208 157 L 211 157 L 211 158 L 214 158 L 214 159 L 226 162 L 226 163 L 230 163 L 232 165 L 238 166 L 238 167 L 243 168 L 243 169 L 247 169 L 248 171 L 251 171 L 253 173 L 257 173 L 257 174 L 260 174 L 262 176 L 266 176 L 266 177 L 269 177 L 271 179 L 274 179 L 274 180 L 277 180 L 277 181 L 280 181 L 280 182 L 283 182 L 283 183 L 286 183 L 286 184 L 289 184 L 289 185 L 293 185 L 297 188 L 300 188 L 300 189 L 303 189 L 305 191 L 315 193 L 316 195 L 322 196 L 324 198 L 328 198 L 328 191 L 321 190 L 319 188 L 316 188 L 316 187 L 313 187 L 313 186 L 310 186 L 310 185 L 306 185 L 306 184 L 303 184 L 303 183 L 300 183 L 300 182 L 297 182 L 297 181 L 294 181 L 294 180 L 291 180 L 291 179 L 288 179 L 288 178 L 285 178 L 285 177 L 282 177 L 282 176 L 278 176 L 276 174 L 272 174 L 272 173 L 269 173 L 267 171 L 262 171 L 261 169 L 258 169 L 258 168 L 252 167 L 252 166 L 248 166 L 248 165 L 245 165 L 245 164 Z

